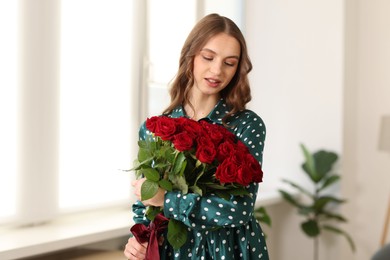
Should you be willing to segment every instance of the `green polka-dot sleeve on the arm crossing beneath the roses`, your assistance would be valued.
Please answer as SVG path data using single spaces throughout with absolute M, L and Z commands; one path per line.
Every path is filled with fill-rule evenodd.
M 265 125 L 254 112 L 247 111 L 240 116 L 234 134 L 262 162 L 265 140 Z M 215 194 L 200 196 L 195 193 L 167 192 L 164 215 L 183 222 L 193 229 L 235 227 L 246 224 L 253 217 L 258 184 L 246 187 L 250 196 L 231 196 L 225 200 Z

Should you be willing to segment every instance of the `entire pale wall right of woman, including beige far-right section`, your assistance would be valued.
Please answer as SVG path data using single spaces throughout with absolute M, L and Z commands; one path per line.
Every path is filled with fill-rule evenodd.
M 321 259 L 370 259 L 379 248 L 390 192 L 390 155 L 377 149 L 380 118 L 390 114 L 390 2 L 246 3 L 251 106 L 268 128 L 264 185 L 282 176 L 306 182 L 300 142 L 339 152 L 342 197 L 348 199 L 342 210 L 349 219 L 342 227 L 357 251 L 325 236 Z M 269 211 L 271 258 L 313 259 L 295 210 L 280 204 Z

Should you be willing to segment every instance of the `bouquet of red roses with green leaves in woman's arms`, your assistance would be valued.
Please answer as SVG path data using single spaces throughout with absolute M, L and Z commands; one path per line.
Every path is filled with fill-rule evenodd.
M 141 200 L 152 198 L 159 187 L 183 194 L 214 193 L 229 199 L 231 195 L 250 196 L 245 189 L 261 182 L 263 172 L 248 148 L 225 127 L 204 120 L 155 116 L 146 120 L 152 133 L 138 142 L 134 168 L 137 177 L 145 177 Z M 153 220 L 160 208 L 148 207 Z M 174 219 L 168 223 L 168 242 L 180 248 L 187 239 L 186 227 Z

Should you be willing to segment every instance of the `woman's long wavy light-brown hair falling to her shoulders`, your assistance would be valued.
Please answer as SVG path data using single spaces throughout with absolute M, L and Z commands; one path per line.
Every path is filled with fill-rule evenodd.
M 189 101 L 190 89 L 194 85 L 194 58 L 208 40 L 219 33 L 226 33 L 234 37 L 241 48 L 236 74 L 220 93 L 230 109 L 229 113 L 223 118 L 223 122 L 225 123 L 226 118 L 231 114 L 245 109 L 246 104 L 251 100 L 248 73 L 252 70 L 252 63 L 248 56 L 244 36 L 237 25 L 229 18 L 218 14 L 209 14 L 194 26 L 183 45 L 179 59 L 179 69 L 171 84 L 171 103 L 163 114 L 169 114 L 177 106 L 185 104 L 189 104 L 194 109 Z

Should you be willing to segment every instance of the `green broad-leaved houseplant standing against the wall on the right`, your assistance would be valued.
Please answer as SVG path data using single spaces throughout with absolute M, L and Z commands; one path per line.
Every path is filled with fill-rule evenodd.
M 298 194 L 302 196 L 292 195 L 283 189 L 279 189 L 279 192 L 304 217 L 301 228 L 304 234 L 314 239 L 314 259 L 317 260 L 319 256 L 318 244 L 322 231 L 343 235 L 352 251 L 355 251 L 352 238 L 333 224 L 347 221 L 345 217 L 337 213 L 336 207 L 344 203 L 345 200 L 329 193 L 329 188 L 340 181 L 340 176 L 333 172 L 333 165 L 338 159 L 337 154 L 324 150 L 310 153 L 303 144 L 301 144 L 301 149 L 305 157 L 302 169 L 312 182 L 313 188 L 309 190 L 295 182 L 283 179 L 283 182 L 297 190 Z M 303 199 L 308 202 L 302 202 Z

